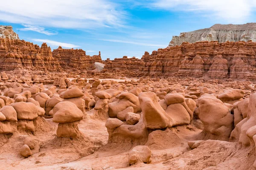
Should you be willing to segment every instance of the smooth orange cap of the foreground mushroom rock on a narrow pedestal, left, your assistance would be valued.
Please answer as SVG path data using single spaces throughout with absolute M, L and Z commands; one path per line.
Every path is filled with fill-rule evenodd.
M 83 119 L 83 112 L 72 102 L 59 102 L 53 108 L 53 122 L 71 123 Z

